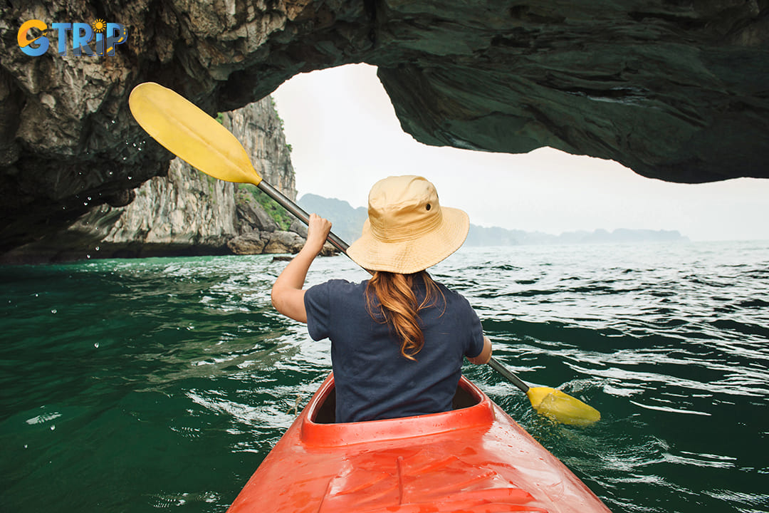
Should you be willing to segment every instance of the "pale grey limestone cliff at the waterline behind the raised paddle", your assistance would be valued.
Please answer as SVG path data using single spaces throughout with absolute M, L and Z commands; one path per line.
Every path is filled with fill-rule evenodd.
M 263 178 L 295 198 L 294 168 L 271 98 L 225 112 L 221 122 L 241 141 Z M 295 252 L 302 242 L 295 233 L 278 230 L 247 189 L 175 158 L 166 176 L 151 178 L 136 190 L 131 204 L 98 205 L 70 228 L 16 248 L 3 260 Z

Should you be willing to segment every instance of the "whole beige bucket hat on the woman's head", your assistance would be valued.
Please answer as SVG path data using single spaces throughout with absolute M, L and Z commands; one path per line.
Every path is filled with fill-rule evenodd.
M 347 254 L 369 271 L 408 275 L 457 251 L 470 229 L 458 208 L 441 207 L 435 186 L 414 175 L 390 176 L 368 193 L 368 219 Z

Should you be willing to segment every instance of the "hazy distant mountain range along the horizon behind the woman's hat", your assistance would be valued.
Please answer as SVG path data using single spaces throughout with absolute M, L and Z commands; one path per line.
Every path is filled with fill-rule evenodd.
M 316 212 L 331 221 L 333 232 L 345 242 L 351 243 L 361 236 L 363 223 L 368 216 L 364 207 L 352 208 L 348 202 L 324 198 L 314 194 L 305 194 L 299 206 L 307 212 Z M 689 238 L 677 230 L 630 230 L 618 228 L 613 232 L 594 230 L 594 232 L 564 232 L 550 235 L 542 232 L 524 232 L 508 230 L 494 226 L 470 225 L 470 233 L 464 242 L 468 246 L 514 246 L 514 245 L 550 245 L 550 244 L 621 244 L 629 242 L 687 242 Z

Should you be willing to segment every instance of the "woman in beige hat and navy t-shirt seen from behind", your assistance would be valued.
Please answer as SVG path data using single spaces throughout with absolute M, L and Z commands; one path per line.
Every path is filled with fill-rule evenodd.
M 463 358 L 484 364 L 491 342 L 468 301 L 426 268 L 455 252 L 468 215 L 441 208 L 420 176 L 391 176 L 368 195 L 363 234 L 348 255 L 371 271 L 355 284 L 331 280 L 304 290 L 305 276 L 331 231 L 310 216 L 307 242 L 275 280 L 272 304 L 331 339 L 336 421 L 355 422 L 448 411 Z

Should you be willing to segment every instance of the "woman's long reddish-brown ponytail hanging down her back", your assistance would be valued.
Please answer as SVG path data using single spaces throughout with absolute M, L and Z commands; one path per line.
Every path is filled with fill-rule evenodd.
M 421 277 L 427 288 L 424 300 L 417 305 L 411 286 Z M 366 285 L 366 308 L 375 321 L 388 323 L 401 340 L 401 355 L 416 360 L 414 355 L 424 346 L 424 333 L 419 326 L 419 311 L 434 305 L 443 293 L 427 271 L 413 275 L 376 271 Z M 445 298 L 444 298 L 445 301 Z

